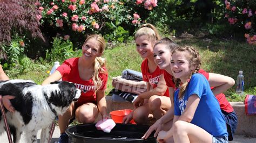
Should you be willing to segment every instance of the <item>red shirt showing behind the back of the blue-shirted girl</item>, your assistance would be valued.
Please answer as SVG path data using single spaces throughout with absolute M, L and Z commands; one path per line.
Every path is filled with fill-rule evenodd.
M 209 73 L 207 73 L 207 72 L 204 71 L 203 69 L 200 69 L 200 70 L 198 71 L 198 73 L 204 75 L 207 80 L 209 79 Z M 213 88 L 214 88 L 214 87 L 211 87 L 211 89 L 213 89 Z M 217 98 L 217 100 L 218 100 L 218 102 L 219 102 L 219 104 L 220 104 L 220 109 L 221 109 L 221 110 L 224 110 L 224 111 L 226 111 L 226 112 L 228 112 L 228 113 L 234 111 L 233 107 L 232 107 L 232 106 L 230 105 L 230 103 L 227 101 L 227 99 L 226 99 L 226 97 L 225 97 L 225 95 L 224 95 L 223 93 L 218 94 L 218 95 L 216 95 L 215 97 Z

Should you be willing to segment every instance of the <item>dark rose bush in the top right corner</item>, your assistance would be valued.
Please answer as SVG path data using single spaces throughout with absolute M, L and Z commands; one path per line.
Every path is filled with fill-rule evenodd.
M 255 17 L 256 1 L 228 1 L 225 0 L 226 15 L 230 25 L 243 27 L 248 44 L 256 45 Z

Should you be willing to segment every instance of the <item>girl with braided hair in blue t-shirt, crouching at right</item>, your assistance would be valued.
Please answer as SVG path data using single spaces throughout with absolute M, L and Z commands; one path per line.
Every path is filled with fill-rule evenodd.
M 198 74 L 200 55 L 192 47 L 178 47 L 171 57 L 171 70 L 177 78 L 174 93 L 173 126 L 160 131 L 159 142 L 228 142 L 225 119 L 206 78 Z

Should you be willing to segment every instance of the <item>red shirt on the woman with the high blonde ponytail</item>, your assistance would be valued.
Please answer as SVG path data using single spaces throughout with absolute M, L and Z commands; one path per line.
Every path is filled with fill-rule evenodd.
M 140 67 L 142 69 L 143 81 L 149 82 L 151 87 L 156 88 L 160 80 L 160 75 L 163 74 L 164 70 L 161 70 L 157 66 L 156 70 L 154 70 L 153 73 L 150 73 L 149 65 L 147 65 L 147 62 L 147 59 L 145 59 L 142 62 L 142 66 Z M 170 97 L 168 89 L 165 91 L 164 96 Z

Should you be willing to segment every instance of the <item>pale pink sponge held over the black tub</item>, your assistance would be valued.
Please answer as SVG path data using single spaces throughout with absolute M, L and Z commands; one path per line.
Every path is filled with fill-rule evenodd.
M 95 126 L 97 130 L 102 130 L 103 132 L 109 133 L 112 128 L 116 126 L 116 123 L 114 123 L 112 119 L 104 119 L 99 120 Z

